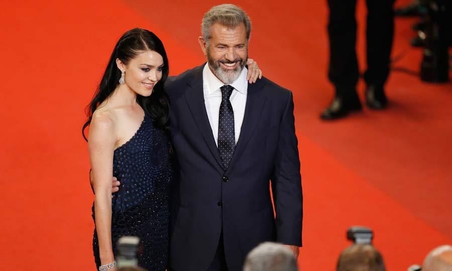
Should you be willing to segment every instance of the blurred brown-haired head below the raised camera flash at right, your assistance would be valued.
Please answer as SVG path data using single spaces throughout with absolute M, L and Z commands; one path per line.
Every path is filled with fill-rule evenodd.
M 385 271 L 380 252 L 371 244 L 353 244 L 337 260 L 336 271 Z

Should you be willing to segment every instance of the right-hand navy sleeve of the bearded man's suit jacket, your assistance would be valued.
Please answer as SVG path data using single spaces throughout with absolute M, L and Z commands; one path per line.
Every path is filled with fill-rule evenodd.
M 298 141 L 295 135 L 293 97 L 289 91 L 282 116 L 278 150 L 272 177 L 272 194 L 276 209 L 277 241 L 302 245 L 303 195 L 301 190 Z

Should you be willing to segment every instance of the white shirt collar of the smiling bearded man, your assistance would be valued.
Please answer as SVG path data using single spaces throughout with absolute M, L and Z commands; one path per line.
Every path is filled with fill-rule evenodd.
M 244 67 L 236 81 L 230 84 L 234 87 L 234 89 L 244 95 L 247 94 L 248 89 L 247 71 L 247 68 Z M 204 83 L 207 86 L 208 95 L 218 91 L 220 87 L 224 85 L 224 83 L 216 78 L 216 76 L 212 73 L 208 63 L 205 64 L 204 69 L 202 70 L 202 75 Z

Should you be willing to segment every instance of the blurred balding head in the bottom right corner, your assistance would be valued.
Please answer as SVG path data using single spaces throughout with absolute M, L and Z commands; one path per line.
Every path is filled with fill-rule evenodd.
M 452 246 L 441 245 L 430 251 L 424 259 L 422 271 L 452 271 Z

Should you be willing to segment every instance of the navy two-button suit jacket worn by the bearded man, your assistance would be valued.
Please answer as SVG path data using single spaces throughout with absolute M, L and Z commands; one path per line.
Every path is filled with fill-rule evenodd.
M 293 98 L 266 78 L 248 85 L 242 130 L 225 170 L 205 110 L 203 66 L 171 77 L 165 85 L 178 167 L 170 265 L 177 271 L 206 270 L 222 232 L 229 270 L 242 270 L 247 253 L 263 241 L 301 246 Z

